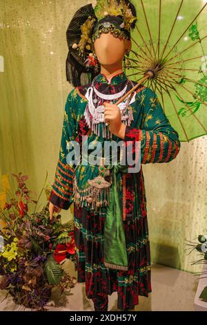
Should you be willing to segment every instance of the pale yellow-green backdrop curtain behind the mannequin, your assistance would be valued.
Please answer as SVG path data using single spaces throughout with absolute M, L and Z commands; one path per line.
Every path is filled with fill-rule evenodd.
M 0 1 L 0 55 L 4 59 L 4 72 L 0 72 L 0 174 L 28 174 L 28 187 L 37 195 L 46 171 L 48 184 L 54 180 L 63 110 L 72 89 L 65 74 L 66 29 L 75 11 L 90 2 Z M 162 28 L 168 28 L 170 12 L 175 12 L 179 1 L 162 2 L 166 3 Z M 186 2 L 184 22 L 186 15 L 193 17 L 203 5 L 203 1 Z M 152 24 L 159 1 L 144 3 Z M 204 15 L 199 23 L 204 30 Z M 143 166 L 152 261 L 190 272 L 200 270 L 190 265 L 197 255 L 187 256 L 184 249 L 186 239 L 195 239 L 206 229 L 206 161 L 207 138 L 200 137 L 182 142 L 175 161 Z

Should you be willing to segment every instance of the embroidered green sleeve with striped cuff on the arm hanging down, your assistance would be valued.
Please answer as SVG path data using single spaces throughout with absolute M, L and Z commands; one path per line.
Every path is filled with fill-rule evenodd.
M 66 156 L 68 154 L 67 144 L 70 140 L 75 140 L 75 112 L 74 89 L 68 94 L 65 111 L 63 115 L 63 127 L 61 135 L 61 145 L 59 149 L 59 159 L 55 173 L 55 181 L 50 193 L 50 202 L 57 207 L 68 210 L 70 207 L 72 194 L 72 178 L 74 168 L 67 164 Z

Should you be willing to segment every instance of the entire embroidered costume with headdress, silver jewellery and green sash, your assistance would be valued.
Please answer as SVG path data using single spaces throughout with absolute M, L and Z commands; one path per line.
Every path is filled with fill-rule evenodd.
M 137 83 L 125 72 L 110 79 L 100 73 L 92 41 L 101 32 L 130 39 L 135 17 L 129 1 L 102 0 L 95 10 L 92 5 L 80 8 L 67 30 L 66 75 L 74 88 L 66 100 L 50 201 L 65 210 L 74 203 L 77 281 L 86 282 L 86 296 L 95 302 L 95 310 L 107 310 L 108 295 L 114 291 L 117 307 L 127 310 L 139 303 L 139 295 L 148 297 L 152 290 L 142 168 L 130 173 L 130 166 L 121 165 L 120 160 L 117 165 L 106 164 L 106 156 L 99 165 L 86 164 L 83 152 L 76 165 L 68 160 L 70 141 L 77 141 L 81 148 L 86 145 L 82 136 L 88 136 L 87 148 L 98 141 L 121 140 L 104 122 L 103 102 L 115 104 Z M 151 89 L 140 85 L 118 106 L 126 124 L 124 145 L 130 143 L 135 155 L 139 142 L 141 164 L 169 163 L 177 156 L 178 133 Z

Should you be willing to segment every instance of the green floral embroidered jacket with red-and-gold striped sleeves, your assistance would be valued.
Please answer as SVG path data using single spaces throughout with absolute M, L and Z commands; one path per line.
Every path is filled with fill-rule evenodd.
M 95 87 L 104 94 L 118 93 L 128 83 L 124 72 L 114 75 L 108 80 L 100 73 L 95 81 Z M 136 82 L 128 84 L 127 91 Z M 70 140 L 77 140 L 81 144 L 83 135 L 87 135 L 88 125 L 83 116 L 88 100 L 86 91 L 90 84 L 72 89 L 68 94 L 63 118 L 61 146 L 59 160 L 55 173 L 55 182 L 52 185 L 50 201 L 65 210 L 72 203 L 72 178 L 74 168 L 67 164 L 67 144 Z M 179 136 L 173 129 L 157 95 L 146 86 L 139 86 L 135 94 L 132 107 L 133 120 L 130 126 L 126 126 L 124 141 L 140 141 L 141 164 L 169 163 L 175 159 L 180 149 Z M 88 136 L 88 142 L 106 139 L 96 136 L 93 132 Z M 112 140 L 120 141 L 120 138 L 112 136 Z M 133 146 L 135 148 L 135 146 Z M 144 176 L 142 168 L 134 174 L 119 175 L 120 204 L 123 207 L 123 219 L 132 220 L 134 214 L 146 216 L 146 192 L 144 188 Z M 82 169 L 81 180 L 86 183 L 86 174 Z

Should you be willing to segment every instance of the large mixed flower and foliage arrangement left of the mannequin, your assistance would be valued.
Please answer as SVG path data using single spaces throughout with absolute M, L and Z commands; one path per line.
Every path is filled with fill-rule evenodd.
M 35 201 L 26 186 L 28 176 L 12 175 L 17 180 L 14 196 L 6 176 L 0 193 L 0 289 L 12 295 L 16 304 L 45 310 L 53 287 L 62 293 L 77 282 L 63 270 L 67 259 L 76 269 L 73 223 L 61 224 L 60 215 L 50 221 L 49 201 L 37 212 L 41 194 Z

